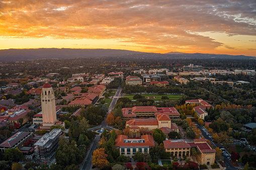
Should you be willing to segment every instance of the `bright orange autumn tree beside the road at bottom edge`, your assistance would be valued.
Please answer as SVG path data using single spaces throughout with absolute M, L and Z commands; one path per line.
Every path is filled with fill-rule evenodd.
M 96 167 L 104 169 L 109 164 L 107 157 L 108 155 L 105 153 L 105 148 L 99 148 L 93 152 L 92 162 Z

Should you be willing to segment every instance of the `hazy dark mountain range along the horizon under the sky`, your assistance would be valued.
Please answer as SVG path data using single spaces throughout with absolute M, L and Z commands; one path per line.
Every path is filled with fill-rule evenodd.
M 95 58 L 95 57 L 125 57 L 139 59 L 168 59 L 168 58 L 202 58 L 202 59 L 256 59 L 250 56 L 233 56 L 233 55 L 220 55 L 220 54 L 201 54 L 201 53 L 180 53 L 169 52 L 166 54 L 159 53 L 143 53 L 129 50 L 113 50 L 113 49 L 68 49 L 68 48 L 40 48 L 40 49 L 8 49 L 0 50 L 0 61 L 18 61 L 18 60 L 31 60 L 31 59 L 67 59 L 67 58 Z

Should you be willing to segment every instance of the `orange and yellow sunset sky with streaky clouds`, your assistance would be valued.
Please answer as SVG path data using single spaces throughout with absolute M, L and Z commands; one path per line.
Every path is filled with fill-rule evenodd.
M 255 0 L 0 0 L 0 49 L 256 56 Z

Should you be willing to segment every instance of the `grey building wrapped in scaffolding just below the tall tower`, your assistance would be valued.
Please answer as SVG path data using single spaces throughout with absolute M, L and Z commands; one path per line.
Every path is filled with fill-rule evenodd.
M 50 159 L 59 147 L 61 129 L 53 129 L 50 133 L 43 135 L 35 144 L 35 155 L 38 159 Z

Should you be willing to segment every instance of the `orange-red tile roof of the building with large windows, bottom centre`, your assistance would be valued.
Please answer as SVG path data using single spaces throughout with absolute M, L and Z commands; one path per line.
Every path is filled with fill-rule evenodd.
M 126 135 L 117 135 L 115 145 L 116 146 L 154 146 L 154 139 L 152 135 L 142 135 L 141 139 L 145 139 L 144 143 L 124 143 L 124 139 L 128 139 Z M 139 139 L 135 139 L 139 140 Z

